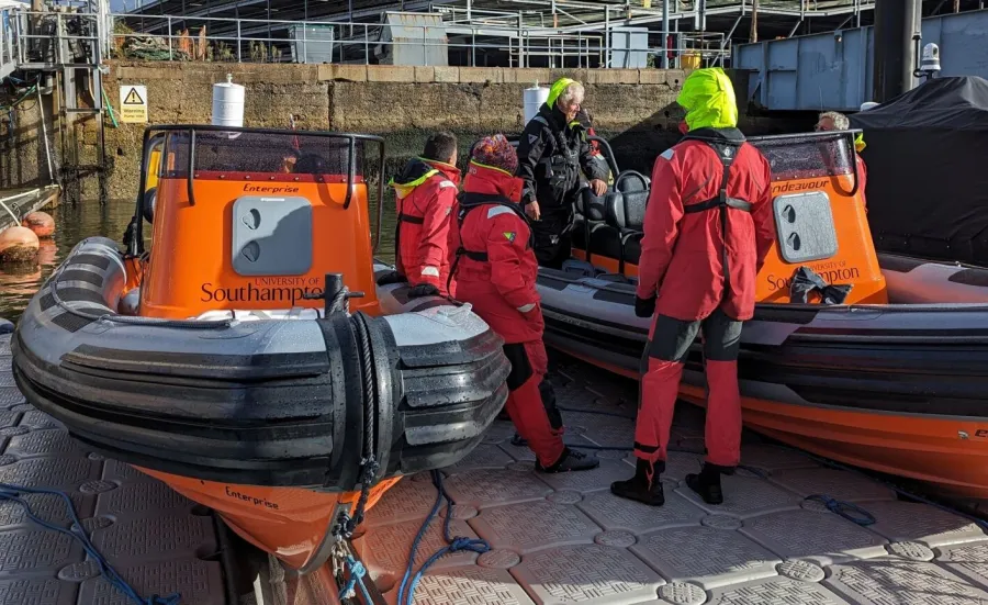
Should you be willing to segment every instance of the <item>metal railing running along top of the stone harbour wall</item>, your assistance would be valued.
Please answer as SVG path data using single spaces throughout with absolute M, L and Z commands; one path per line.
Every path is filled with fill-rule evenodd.
M 437 65 L 597 68 L 615 65 L 619 53 L 635 56 L 631 67 L 658 65 L 663 52 L 673 67 L 725 65 L 730 46 L 723 36 L 669 32 L 675 46 L 613 47 L 607 32 L 568 32 L 543 27 L 395 25 L 414 36 L 382 40 L 390 24 L 234 19 L 215 16 L 146 16 L 111 14 L 101 23 L 96 13 L 16 11 L 14 55 L 22 68 L 99 65 L 103 58 L 214 63 L 363 63 L 390 64 L 398 54 L 412 65 L 430 65 L 430 51 L 446 49 L 450 63 Z M 327 33 L 328 32 L 328 33 Z M 653 32 L 660 37 L 661 32 Z M 712 36 L 712 37 L 711 37 Z M 664 37 L 664 36 L 662 36 Z M 441 53 L 440 53 L 441 55 Z M 652 57 L 653 59 L 649 59 Z M 408 63 L 405 63 L 408 64 Z M 643 64 L 643 65 L 642 65 Z

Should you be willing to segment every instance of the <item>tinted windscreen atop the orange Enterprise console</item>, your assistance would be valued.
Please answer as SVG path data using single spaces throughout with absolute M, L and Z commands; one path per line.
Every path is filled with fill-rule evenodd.
M 194 143 L 193 143 L 194 141 Z M 164 176 L 181 178 L 189 171 L 194 146 L 194 170 L 224 173 L 339 176 L 349 173 L 350 138 L 304 132 L 171 131 L 168 133 Z M 355 141 L 353 172 L 363 173 L 363 141 Z

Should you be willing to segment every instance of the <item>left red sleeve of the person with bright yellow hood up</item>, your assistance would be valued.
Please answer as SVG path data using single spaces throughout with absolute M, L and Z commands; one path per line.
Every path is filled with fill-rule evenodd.
M 672 164 L 675 153 L 675 149 L 666 150 L 655 158 L 652 168 L 652 191 L 645 208 L 644 236 L 638 261 L 638 296 L 641 299 L 658 295 L 680 234 L 683 198 L 680 177 Z

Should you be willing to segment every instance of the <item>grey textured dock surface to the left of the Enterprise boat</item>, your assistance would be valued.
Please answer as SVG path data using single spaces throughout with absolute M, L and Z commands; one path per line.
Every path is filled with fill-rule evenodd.
M 10 338 L 0 338 L 0 483 L 66 492 L 97 549 L 142 596 L 227 605 L 212 515 L 131 467 L 106 460 L 34 410 L 14 386 Z M 70 528 L 61 498 L 27 494 L 41 518 Z M 0 605 L 131 605 L 68 536 L 0 501 Z

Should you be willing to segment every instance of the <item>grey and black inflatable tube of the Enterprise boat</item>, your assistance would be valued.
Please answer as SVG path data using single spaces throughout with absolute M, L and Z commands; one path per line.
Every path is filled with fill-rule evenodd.
M 125 278 L 115 243 L 80 242 L 11 348 L 33 405 L 128 463 L 352 491 L 368 448 L 379 478 L 457 462 L 507 397 L 501 339 L 449 301 L 388 317 L 153 320 L 116 313 Z

